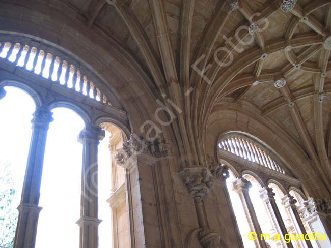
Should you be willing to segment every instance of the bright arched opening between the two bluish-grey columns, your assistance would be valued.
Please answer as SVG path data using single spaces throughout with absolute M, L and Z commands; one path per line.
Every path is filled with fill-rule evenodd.
M 36 247 L 79 246 L 82 145 L 77 142 L 85 127 L 68 108 L 52 110 L 45 149 Z M 50 225 L 51 223 L 51 225 Z M 56 237 L 61 236 L 61 239 Z M 51 242 L 50 242 L 51 240 Z

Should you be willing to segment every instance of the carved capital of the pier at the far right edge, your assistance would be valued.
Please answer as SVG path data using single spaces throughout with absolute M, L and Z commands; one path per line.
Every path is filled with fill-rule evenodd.
M 331 214 L 331 200 L 326 198 L 316 200 L 309 198 L 307 201 L 302 203 L 298 212 L 300 218 L 302 219 L 306 219 L 317 212 Z

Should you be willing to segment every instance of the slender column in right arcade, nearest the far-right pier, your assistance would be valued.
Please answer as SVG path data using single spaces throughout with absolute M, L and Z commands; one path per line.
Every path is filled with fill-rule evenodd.
M 291 196 L 289 194 L 285 195 L 282 198 L 282 205 L 284 205 L 286 210 L 288 211 L 296 233 L 297 234 L 302 233 L 305 235 L 305 234 L 307 234 L 307 232 L 306 232 L 304 224 L 302 223 L 302 221 L 300 219 L 300 215 L 296 209 L 295 203 L 296 203 L 296 200 L 294 199 L 293 196 Z M 306 241 L 306 245 L 303 244 L 305 241 Z M 313 245 L 310 242 L 310 240 L 305 240 L 305 241 L 301 241 L 301 243 L 304 247 L 313 248 Z

